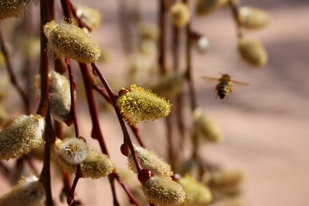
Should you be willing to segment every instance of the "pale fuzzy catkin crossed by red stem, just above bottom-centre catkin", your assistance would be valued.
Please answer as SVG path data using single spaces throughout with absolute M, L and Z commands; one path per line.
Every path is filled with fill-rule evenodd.
M 141 168 L 150 169 L 157 176 L 170 177 L 173 175 L 170 165 L 165 163 L 163 159 L 159 158 L 155 152 L 139 146 L 134 146 L 134 150 L 137 155 L 137 159 L 139 159 Z M 128 166 L 131 170 L 133 170 L 133 172 L 137 174 L 137 169 L 132 155 L 128 155 Z

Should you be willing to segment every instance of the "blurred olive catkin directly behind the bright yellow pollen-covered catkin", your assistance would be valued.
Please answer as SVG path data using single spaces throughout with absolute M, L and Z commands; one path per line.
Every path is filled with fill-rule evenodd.
M 178 72 L 171 72 L 163 76 L 157 84 L 150 87 L 153 93 L 166 98 L 178 95 L 183 88 L 183 76 Z

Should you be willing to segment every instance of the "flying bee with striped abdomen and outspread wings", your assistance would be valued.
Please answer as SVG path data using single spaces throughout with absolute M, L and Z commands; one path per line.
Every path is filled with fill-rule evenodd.
M 238 82 L 238 81 L 231 80 L 231 77 L 227 73 L 222 74 L 220 79 L 210 78 L 210 77 L 206 77 L 206 76 L 203 76 L 201 78 L 203 78 L 204 80 L 207 80 L 207 81 L 216 81 L 216 82 L 219 81 L 219 83 L 216 85 L 216 92 L 217 92 L 217 95 L 220 97 L 221 100 L 224 99 L 224 98 L 227 98 L 229 93 L 232 92 L 232 90 L 233 90 L 232 83 L 239 85 L 239 86 L 248 86 L 249 85 L 249 84 L 244 83 L 244 82 Z

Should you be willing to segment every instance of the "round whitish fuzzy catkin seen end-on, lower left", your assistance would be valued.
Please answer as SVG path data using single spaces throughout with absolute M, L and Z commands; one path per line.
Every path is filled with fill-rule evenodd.
M 76 137 L 65 138 L 63 141 L 57 139 L 55 144 L 58 144 L 60 157 L 71 165 L 82 163 L 88 155 L 87 144 Z

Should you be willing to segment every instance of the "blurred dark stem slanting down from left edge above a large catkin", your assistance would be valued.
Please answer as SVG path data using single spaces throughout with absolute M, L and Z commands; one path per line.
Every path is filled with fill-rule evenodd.
M 25 91 L 23 91 L 23 89 L 21 89 L 21 86 L 19 85 L 19 82 L 17 81 L 17 78 L 14 74 L 12 64 L 11 64 L 11 61 L 10 61 L 10 58 L 9 58 L 9 55 L 8 55 L 8 49 L 6 49 L 4 41 L 3 41 L 2 32 L 1 32 L 1 25 L 0 25 L 0 45 L 1 45 L 1 52 L 2 52 L 4 59 L 5 59 L 6 67 L 8 68 L 10 80 L 11 80 L 12 84 L 14 85 L 14 87 L 16 88 L 19 95 L 21 96 L 21 99 L 23 100 L 25 112 L 27 113 L 27 115 L 29 115 L 30 114 L 30 102 L 29 102 L 29 99 L 27 97 L 27 94 L 25 93 Z

